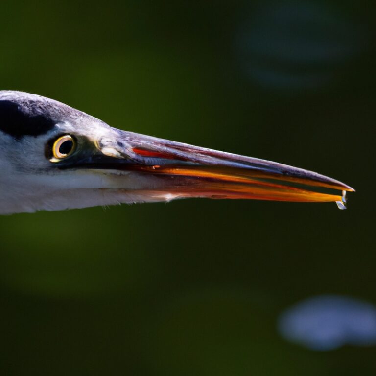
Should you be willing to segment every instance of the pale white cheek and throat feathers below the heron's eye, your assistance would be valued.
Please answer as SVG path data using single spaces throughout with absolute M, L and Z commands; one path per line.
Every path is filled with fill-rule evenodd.
M 159 185 L 158 179 L 115 170 L 57 171 L 49 175 L 9 173 L 7 179 L 0 179 L 0 214 L 170 201 L 179 197 L 158 190 Z

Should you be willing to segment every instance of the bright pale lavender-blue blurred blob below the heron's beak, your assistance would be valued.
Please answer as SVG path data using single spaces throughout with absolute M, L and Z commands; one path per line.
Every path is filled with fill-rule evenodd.
M 311 350 L 376 344 L 376 306 L 339 295 L 320 295 L 285 310 L 278 330 Z

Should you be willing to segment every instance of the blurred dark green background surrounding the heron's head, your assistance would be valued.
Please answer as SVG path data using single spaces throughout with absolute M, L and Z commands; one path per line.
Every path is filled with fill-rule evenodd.
M 0 217 L 1 375 L 375 375 L 375 347 L 276 330 L 312 295 L 376 303 L 372 4 L 2 1 L 1 89 L 357 192 Z

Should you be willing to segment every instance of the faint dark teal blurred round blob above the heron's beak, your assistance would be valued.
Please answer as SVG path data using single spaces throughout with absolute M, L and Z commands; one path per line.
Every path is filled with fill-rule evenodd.
M 364 27 L 325 3 L 260 1 L 237 38 L 246 75 L 266 89 L 320 87 L 364 47 Z

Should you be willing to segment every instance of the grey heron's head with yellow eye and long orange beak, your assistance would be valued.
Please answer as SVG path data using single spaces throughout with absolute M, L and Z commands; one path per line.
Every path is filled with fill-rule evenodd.
M 312 171 L 119 130 L 43 96 L 0 91 L 0 214 L 187 197 L 345 208 L 346 191 Z

